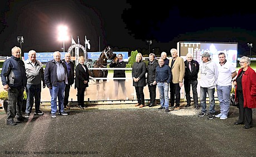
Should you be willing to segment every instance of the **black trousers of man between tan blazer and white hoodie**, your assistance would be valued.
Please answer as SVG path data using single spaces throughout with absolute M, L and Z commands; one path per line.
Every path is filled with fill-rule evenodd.
M 198 105 L 198 80 L 184 80 L 184 89 L 186 93 L 186 104 L 191 104 L 190 99 L 190 85 L 192 86 L 194 105 Z

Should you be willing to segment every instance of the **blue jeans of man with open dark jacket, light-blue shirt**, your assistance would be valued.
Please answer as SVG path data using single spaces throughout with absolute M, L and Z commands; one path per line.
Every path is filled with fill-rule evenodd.
M 51 113 L 57 112 L 57 97 L 58 97 L 58 112 L 64 112 L 64 90 L 65 82 L 57 82 L 57 86 L 52 86 L 51 94 Z

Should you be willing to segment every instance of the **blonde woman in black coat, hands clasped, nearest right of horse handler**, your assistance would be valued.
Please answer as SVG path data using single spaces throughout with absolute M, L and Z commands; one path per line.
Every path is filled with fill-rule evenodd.
M 135 107 L 139 106 L 140 108 L 145 107 L 144 103 L 144 93 L 143 89 L 146 86 L 146 63 L 142 62 L 142 54 L 138 53 L 136 55 L 136 62 L 132 65 L 132 85 L 135 87 L 137 101 L 138 103 Z

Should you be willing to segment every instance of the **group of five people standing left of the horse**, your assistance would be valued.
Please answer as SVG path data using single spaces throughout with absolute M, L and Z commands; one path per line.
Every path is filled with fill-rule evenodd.
M 40 110 L 41 87 L 49 88 L 51 94 L 51 117 L 56 118 L 57 99 L 58 113 L 68 115 L 64 108 L 68 107 L 70 87 L 75 82 L 77 100 L 80 108 L 85 108 L 84 94 L 88 87 L 89 72 L 84 64 L 85 58 L 79 57 L 79 64 L 71 62 L 71 54 L 66 53 L 61 60 L 61 53 L 53 53 L 53 59 L 47 62 L 45 70 L 42 63 L 36 59 L 36 51 L 29 50 L 28 59 L 21 59 L 21 48 L 13 47 L 12 56 L 4 61 L 1 79 L 4 90 L 8 92 L 7 121 L 8 125 L 17 125 L 29 118 L 35 103 L 35 114 L 43 115 Z M 75 78 L 76 72 L 76 78 Z M 22 116 L 23 92 L 27 93 L 26 113 Z

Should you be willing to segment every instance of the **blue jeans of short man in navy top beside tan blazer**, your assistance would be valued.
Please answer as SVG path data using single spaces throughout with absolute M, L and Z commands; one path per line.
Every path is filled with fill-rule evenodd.
M 157 83 L 157 87 L 159 90 L 160 94 L 160 104 L 164 108 L 169 108 L 169 96 L 168 96 L 168 91 L 169 91 L 169 84 L 168 83 Z

